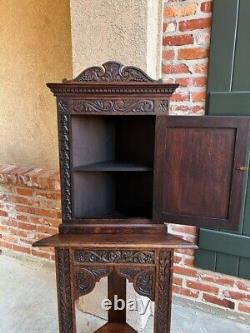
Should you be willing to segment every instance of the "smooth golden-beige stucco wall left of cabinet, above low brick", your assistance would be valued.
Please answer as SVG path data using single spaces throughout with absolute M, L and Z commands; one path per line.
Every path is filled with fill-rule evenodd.
M 0 162 L 58 167 L 55 99 L 72 76 L 68 0 L 0 1 Z

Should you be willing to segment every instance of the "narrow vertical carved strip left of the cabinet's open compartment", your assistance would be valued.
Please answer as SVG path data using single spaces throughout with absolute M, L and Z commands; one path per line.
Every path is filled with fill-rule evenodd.
M 65 99 L 58 99 L 59 155 L 61 168 L 62 218 L 72 218 L 71 174 L 70 174 L 70 116 Z

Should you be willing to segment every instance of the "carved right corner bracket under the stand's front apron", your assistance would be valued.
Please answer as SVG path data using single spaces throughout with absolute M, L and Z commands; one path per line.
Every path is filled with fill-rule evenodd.
M 154 301 L 154 268 L 116 267 L 116 272 L 132 282 L 139 295 Z

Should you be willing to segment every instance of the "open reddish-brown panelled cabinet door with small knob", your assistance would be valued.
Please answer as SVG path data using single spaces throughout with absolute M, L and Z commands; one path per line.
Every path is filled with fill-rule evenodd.
M 156 120 L 154 220 L 237 229 L 250 117 Z

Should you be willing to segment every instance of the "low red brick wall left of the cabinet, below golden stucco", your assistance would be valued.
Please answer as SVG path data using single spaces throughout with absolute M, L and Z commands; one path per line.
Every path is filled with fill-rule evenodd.
M 50 248 L 31 244 L 55 234 L 61 218 L 59 173 L 39 168 L 0 166 L 0 246 L 44 259 Z

